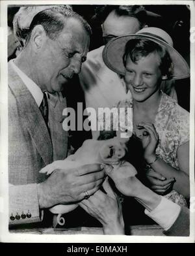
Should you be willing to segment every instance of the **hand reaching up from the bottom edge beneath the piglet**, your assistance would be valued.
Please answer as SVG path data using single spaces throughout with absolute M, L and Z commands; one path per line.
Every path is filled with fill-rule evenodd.
M 122 206 L 107 178 L 103 189 L 107 194 L 98 190 L 89 199 L 80 202 L 79 206 L 101 222 L 104 234 L 124 234 Z

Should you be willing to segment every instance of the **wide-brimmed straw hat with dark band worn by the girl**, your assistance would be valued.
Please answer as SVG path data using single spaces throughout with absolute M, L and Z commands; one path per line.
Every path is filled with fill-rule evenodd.
M 124 35 L 110 40 L 103 50 L 103 61 L 112 71 L 125 74 L 123 55 L 125 54 L 125 45 L 131 39 L 148 39 L 166 47 L 174 64 L 174 70 L 169 79 L 182 79 L 190 76 L 188 64 L 181 54 L 174 49 L 172 38 L 158 27 L 144 27 L 136 34 Z

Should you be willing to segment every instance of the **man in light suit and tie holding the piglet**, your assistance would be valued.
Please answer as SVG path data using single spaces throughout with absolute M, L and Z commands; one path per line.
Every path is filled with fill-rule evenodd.
M 83 200 L 103 181 L 98 164 L 59 170 L 47 180 L 39 174 L 67 155 L 60 91 L 81 71 L 90 33 L 79 14 L 48 7 L 34 16 L 21 54 L 8 63 L 10 225 L 41 221 L 40 210 Z

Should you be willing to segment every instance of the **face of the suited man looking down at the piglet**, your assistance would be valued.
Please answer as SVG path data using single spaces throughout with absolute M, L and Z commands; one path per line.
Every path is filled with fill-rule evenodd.
M 62 91 L 73 74 L 81 71 L 86 59 L 90 37 L 81 22 L 68 18 L 64 29 L 55 40 L 46 38 L 40 52 L 38 84 L 43 91 Z

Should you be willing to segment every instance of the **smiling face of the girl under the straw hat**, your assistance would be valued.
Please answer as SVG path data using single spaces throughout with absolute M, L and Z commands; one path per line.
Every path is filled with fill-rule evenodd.
M 137 63 L 126 58 L 125 83 L 135 101 L 143 102 L 159 91 L 162 76 L 159 69 L 161 59 L 155 52 L 141 57 Z

